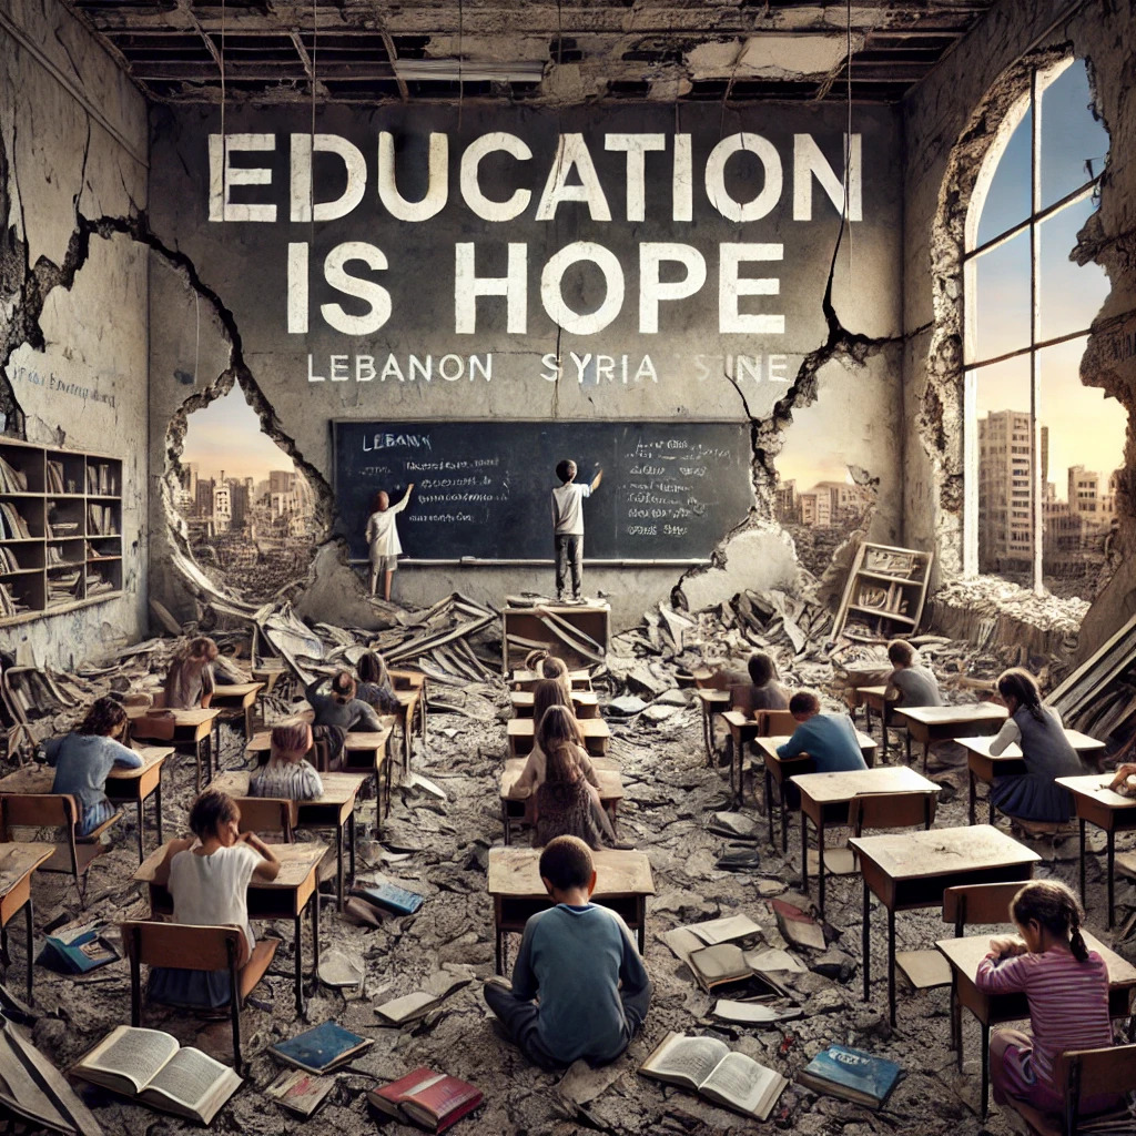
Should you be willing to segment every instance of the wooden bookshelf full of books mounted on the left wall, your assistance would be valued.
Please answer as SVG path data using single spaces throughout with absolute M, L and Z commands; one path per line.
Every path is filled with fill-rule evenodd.
M 0 438 L 0 626 L 123 594 L 123 462 Z

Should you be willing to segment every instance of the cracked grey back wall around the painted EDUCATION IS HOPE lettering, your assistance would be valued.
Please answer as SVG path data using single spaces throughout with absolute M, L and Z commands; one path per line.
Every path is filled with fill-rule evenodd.
M 682 109 L 683 132 L 694 145 L 710 149 L 721 137 L 741 131 L 761 133 L 772 140 L 784 156 L 783 200 L 760 219 L 727 222 L 711 215 L 702 199 L 702 167 L 695 162 L 695 207 L 690 223 L 671 217 L 670 139 L 675 131 L 674 108 L 635 107 L 604 110 L 590 107 L 566 109 L 559 115 L 512 109 L 504 106 L 468 106 L 459 118 L 454 111 L 418 107 L 383 108 L 365 112 L 342 107 L 317 110 L 316 130 L 351 140 L 367 164 L 366 195 L 353 212 L 331 222 L 290 222 L 289 134 L 307 136 L 310 122 L 289 108 L 231 108 L 226 130 L 272 135 L 272 152 L 245 153 L 236 165 L 259 165 L 270 169 L 270 187 L 237 191 L 233 200 L 275 203 L 277 220 L 210 222 L 208 135 L 219 127 L 212 108 L 156 108 L 151 123 L 152 183 L 150 237 L 161 248 L 176 249 L 177 265 L 151 265 L 151 463 L 156 485 L 151 521 L 154 533 L 154 594 L 170 586 L 165 565 L 178 537 L 168 532 L 168 510 L 161 493 L 169 492 L 170 471 L 177 459 L 179 415 L 187 404 L 216 396 L 233 379 L 262 414 L 272 418 L 269 433 L 286 440 L 290 452 L 308 463 L 312 476 L 326 487 L 332 477 L 332 419 L 364 419 L 382 424 L 399 420 L 470 420 L 601 418 L 611 420 L 684 420 L 688 418 L 749 421 L 754 444 L 754 506 L 749 518 L 736 518 L 736 532 L 724 523 L 724 541 L 713 552 L 709 569 L 685 574 L 679 580 L 694 602 L 708 590 L 720 595 L 740 586 L 763 587 L 787 584 L 795 563 L 792 545 L 774 518 L 772 485 L 776 454 L 783 436 L 800 429 L 811 434 L 812 444 L 832 449 L 841 461 L 854 462 L 878 484 L 880 532 L 899 535 L 899 450 L 885 437 L 882 424 L 894 421 L 899 403 L 900 290 L 900 173 L 895 116 L 884 108 L 857 108 L 854 130 L 863 135 L 863 220 L 851 225 L 840 254 L 834 245 L 840 217 L 824 192 L 813 187 L 815 216 L 793 219 L 793 135 L 812 133 L 829 159 L 842 168 L 844 114 L 836 107 L 754 106 L 745 111 L 713 108 Z M 426 136 L 429 132 L 449 137 L 448 200 L 437 216 L 423 223 L 395 222 L 379 207 L 375 183 L 375 150 L 379 131 L 395 139 L 398 192 L 409 202 L 427 193 Z M 466 145 L 488 132 L 509 132 L 532 148 L 527 166 L 512 159 L 488 162 L 487 194 L 501 202 L 518 186 L 532 190 L 533 204 L 541 193 L 544 172 L 550 168 L 558 134 L 578 132 L 588 143 L 599 169 L 599 181 L 610 203 L 610 220 L 591 220 L 579 203 L 562 204 L 549 223 L 534 223 L 529 209 L 509 224 L 493 224 L 473 217 L 461 207 L 459 159 Z M 648 166 L 643 209 L 645 216 L 628 220 L 626 186 L 620 176 L 625 156 L 604 152 L 605 134 L 657 133 L 666 140 L 667 154 Z M 702 154 L 704 158 L 704 153 Z M 518 169 L 533 173 L 517 181 Z M 341 172 L 340 172 L 341 173 Z M 752 172 L 751 172 L 752 173 Z M 578 184 L 576 172 L 568 184 Z M 316 201 L 343 192 L 339 174 L 320 181 L 317 167 Z M 490 184 L 491 183 L 491 184 Z M 745 184 L 736 178 L 730 190 L 749 200 L 761 187 L 760 179 Z M 384 190 L 386 192 L 390 186 Z M 301 186 L 301 198 L 303 195 Z M 298 216 L 303 214 L 301 207 Z M 626 210 L 626 211 L 625 211 Z M 390 292 L 392 315 L 378 329 L 348 333 L 321 319 L 324 306 L 342 301 L 320 278 L 325 256 L 337 243 L 368 242 L 387 259 L 386 269 L 371 275 Z M 528 257 L 527 319 L 523 329 L 507 326 L 502 299 L 484 298 L 476 304 L 476 331 L 460 333 L 457 323 L 456 244 L 475 245 L 478 276 L 502 276 L 507 272 L 507 244 L 523 244 Z M 541 310 L 542 266 L 573 242 L 593 242 L 611 250 L 624 267 L 626 299 L 619 315 L 602 332 L 586 334 L 558 328 Z M 640 286 L 640 245 L 644 242 L 683 242 L 696 245 L 707 256 L 710 286 L 682 303 L 661 306 L 657 334 L 644 334 L 636 324 Z M 736 242 L 779 243 L 784 260 L 772 272 L 754 265 L 741 275 L 776 276 L 776 299 L 742 300 L 743 310 L 771 310 L 785 315 L 784 334 L 719 334 L 717 289 L 719 245 Z M 299 309 L 306 328 L 291 328 L 298 318 L 290 306 L 286 286 L 289 245 L 310 244 L 310 269 L 303 277 L 309 293 L 301 295 Z M 665 277 L 674 281 L 675 275 Z M 677 274 L 682 278 L 682 274 Z M 768 290 L 767 290 L 768 291 Z M 208 303 L 203 298 L 208 298 Z M 566 291 L 578 311 L 601 307 L 603 292 L 596 278 L 586 274 Z M 304 302 L 307 301 L 307 302 Z M 348 315 L 366 312 L 358 301 L 342 304 Z M 565 323 L 568 323 L 567 320 Z M 234 341 L 237 350 L 234 353 Z M 576 359 L 591 358 L 579 365 Z M 345 356 L 349 368 L 357 359 L 375 360 L 378 371 L 384 360 L 395 360 L 404 373 L 408 357 L 431 354 L 435 360 L 452 353 L 493 357 L 492 381 L 484 383 L 408 382 L 391 373 L 365 382 L 352 375 L 334 381 L 333 357 Z M 617 360 L 616 377 L 598 371 L 599 354 Z M 565 370 L 559 381 L 542 375 L 545 356 L 559 357 Z M 650 354 L 655 376 L 624 384 L 619 362 L 630 360 L 634 375 Z M 759 360 L 755 367 L 740 367 L 738 356 Z M 775 371 L 766 361 L 782 357 Z M 837 424 L 794 426 L 793 411 L 824 399 L 816 374 L 826 364 L 846 368 L 854 398 L 846 399 L 850 414 Z M 358 374 L 356 371 L 354 374 Z M 770 378 L 774 375 L 774 378 Z M 186 382 L 186 376 L 194 376 Z M 775 381 L 774 381 L 775 379 Z M 262 400 L 262 401 L 261 401 Z M 170 427 L 173 423 L 173 427 Z M 849 438 L 853 438 L 849 443 Z M 543 483 L 546 470 L 534 470 Z M 608 490 L 611 491 L 610 487 Z M 328 499 L 329 500 L 329 499 Z M 535 520 L 543 524 L 543 517 Z M 175 526 L 176 528 L 176 526 Z M 161 545 L 161 542 L 170 542 Z M 727 538 L 728 537 L 728 538 Z M 406 543 L 406 541 L 404 541 Z M 785 550 L 788 549 L 786 554 Z M 708 550 L 709 551 L 709 550 Z M 460 554 L 459 550 L 456 550 Z M 665 556 L 660 550 L 660 556 Z M 331 570 L 320 558 L 320 573 Z M 722 575 L 719 575 L 722 574 Z M 590 590 L 607 591 L 617 607 L 617 621 L 634 621 L 643 607 L 667 599 L 676 585 L 675 568 L 594 569 Z M 459 587 L 481 600 L 499 601 L 506 592 L 525 588 L 546 591 L 551 568 L 469 568 L 461 566 L 415 567 L 399 574 L 400 594 L 410 601 L 431 601 L 440 592 Z M 321 582 L 319 594 L 334 594 L 335 586 Z M 170 604 L 179 613 L 175 598 Z M 321 600 L 318 618 L 334 619 Z

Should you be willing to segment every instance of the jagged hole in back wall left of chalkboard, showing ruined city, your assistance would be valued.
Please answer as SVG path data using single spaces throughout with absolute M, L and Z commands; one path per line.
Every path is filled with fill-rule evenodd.
M 189 415 L 174 504 L 200 569 L 245 600 L 306 578 L 325 535 L 315 487 L 235 385 Z

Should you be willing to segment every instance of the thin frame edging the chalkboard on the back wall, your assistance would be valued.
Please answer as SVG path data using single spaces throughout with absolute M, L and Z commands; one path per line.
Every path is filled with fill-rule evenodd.
M 335 495 L 336 501 L 339 501 L 340 488 L 339 488 L 339 470 L 340 470 L 340 454 L 339 454 L 339 433 L 336 427 L 342 425 L 358 426 L 360 421 L 374 421 L 374 418 L 360 418 L 354 417 L 337 417 L 328 419 L 328 431 L 331 433 L 331 450 L 332 450 L 332 492 Z M 391 418 L 386 420 L 390 426 L 398 426 L 402 419 Z M 406 419 L 406 424 L 423 424 L 428 421 L 428 419 Z M 675 418 L 440 418 L 436 419 L 437 425 L 452 424 L 462 426 L 476 426 L 478 424 L 485 425 L 536 425 L 536 426 L 548 426 L 548 425 L 561 425 L 568 426 L 574 423 L 586 424 L 586 425 L 610 425 L 610 426 L 733 426 L 733 427 L 745 427 L 746 423 L 737 418 L 696 418 L 696 417 L 684 417 L 682 419 Z M 340 536 L 343 533 L 340 528 L 341 517 L 339 509 L 335 512 L 335 523 L 333 526 L 333 532 Z M 722 533 L 722 538 L 727 535 L 726 532 Z M 348 557 L 349 565 L 364 566 L 369 561 L 366 557 Z M 711 565 L 713 561 L 710 557 L 651 557 L 651 558 L 635 558 L 635 557 L 584 557 L 584 565 L 595 568 L 702 568 Z M 466 568 L 549 568 L 554 566 L 552 557 L 518 557 L 518 558 L 487 558 L 487 557 L 442 557 L 442 558 L 425 558 L 425 557 L 399 557 L 399 563 L 412 568 L 450 568 L 450 567 L 466 567 Z

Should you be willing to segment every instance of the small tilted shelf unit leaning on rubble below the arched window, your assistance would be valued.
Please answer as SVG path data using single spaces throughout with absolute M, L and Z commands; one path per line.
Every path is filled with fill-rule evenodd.
M 930 579 L 930 552 L 864 542 L 857 550 L 833 636 L 854 619 L 886 638 L 914 635 Z

